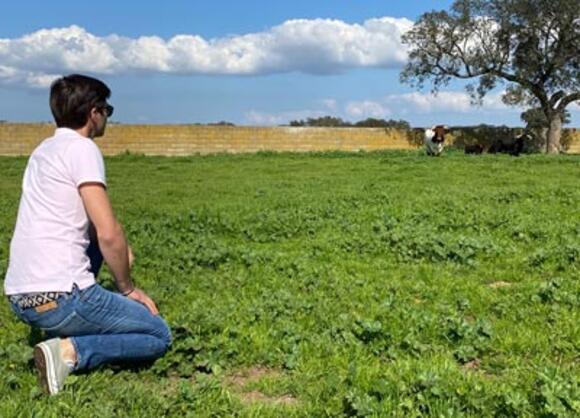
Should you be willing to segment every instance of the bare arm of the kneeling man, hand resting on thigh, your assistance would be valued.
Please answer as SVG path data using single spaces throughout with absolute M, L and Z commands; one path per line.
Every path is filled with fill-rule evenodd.
M 123 228 L 115 218 L 113 207 L 105 187 L 100 183 L 84 183 L 79 193 L 95 227 L 99 248 L 107 262 L 119 292 L 147 306 L 151 313 L 157 314 L 155 303 L 147 294 L 134 287 L 129 275 L 129 248 Z

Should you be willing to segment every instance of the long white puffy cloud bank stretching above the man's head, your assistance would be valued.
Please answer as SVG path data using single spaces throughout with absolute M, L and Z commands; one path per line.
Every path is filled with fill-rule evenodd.
M 42 29 L 20 38 L 0 39 L 0 82 L 44 85 L 53 74 L 74 71 L 260 75 L 393 68 L 407 59 L 401 35 L 412 24 L 391 17 L 362 24 L 297 19 L 264 32 L 209 40 L 191 34 L 167 40 L 114 34 L 99 37 L 74 25 Z

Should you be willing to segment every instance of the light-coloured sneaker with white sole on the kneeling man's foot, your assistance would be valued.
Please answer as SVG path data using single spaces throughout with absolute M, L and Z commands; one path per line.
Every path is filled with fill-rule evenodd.
M 44 392 L 56 395 L 70 374 L 70 368 L 60 354 L 60 338 L 52 338 L 36 344 L 34 364 L 38 370 L 38 379 Z

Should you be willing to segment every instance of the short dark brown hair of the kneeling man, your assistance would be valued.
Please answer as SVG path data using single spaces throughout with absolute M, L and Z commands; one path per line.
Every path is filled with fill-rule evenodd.
M 105 105 L 111 90 L 96 78 L 71 74 L 50 86 L 50 110 L 59 128 L 79 129 L 93 107 Z

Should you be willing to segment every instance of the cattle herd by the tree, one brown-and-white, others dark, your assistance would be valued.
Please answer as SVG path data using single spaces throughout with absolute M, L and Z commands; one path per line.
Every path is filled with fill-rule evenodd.
M 449 132 L 447 125 L 434 125 L 425 129 L 424 145 L 425 152 L 430 156 L 439 156 L 445 149 L 445 134 Z M 526 141 L 532 140 L 528 132 L 524 132 L 510 140 L 495 140 L 489 145 L 466 144 L 464 152 L 466 154 L 509 154 L 518 156 L 524 149 Z

